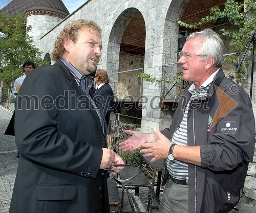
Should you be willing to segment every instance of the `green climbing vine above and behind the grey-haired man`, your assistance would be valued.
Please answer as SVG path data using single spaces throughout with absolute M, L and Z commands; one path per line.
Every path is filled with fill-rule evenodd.
M 207 22 L 216 23 L 217 21 L 226 21 L 232 26 L 231 29 L 221 29 L 219 33 L 224 38 L 229 38 L 229 46 L 234 48 L 236 53 L 240 54 L 245 52 L 248 45 L 248 39 L 250 38 L 251 33 L 255 30 L 255 8 L 255 0 L 245 0 L 243 2 L 227 0 L 223 10 L 221 10 L 218 6 L 211 8 L 210 14 L 203 17 L 201 21 L 197 23 L 186 23 L 179 18 L 178 23 L 182 27 L 196 29 L 198 26 L 202 26 Z M 251 50 L 251 48 L 252 44 L 250 45 L 249 49 Z M 237 55 L 230 55 L 226 57 L 224 61 L 230 61 L 235 67 L 237 67 L 239 64 Z M 236 72 L 237 68 L 235 68 L 233 72 L 229 74 L 229 76 L 238 83 L 242 82 L 242 76 L 246 73 L 248 62 L 249 60 L 243 63 L 239 72 Z

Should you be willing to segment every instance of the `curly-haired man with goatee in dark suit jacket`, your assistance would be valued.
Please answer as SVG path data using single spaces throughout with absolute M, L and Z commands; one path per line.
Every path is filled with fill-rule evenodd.
M 106 148 L 107 125 L 89 95 L 100 32 L 94 21 L 68 23 L 55 42 L 55 64 L 35 69 L 20 88 L 19 164 L 9 212 L 110 212 L 103 169 L 124 162 Z

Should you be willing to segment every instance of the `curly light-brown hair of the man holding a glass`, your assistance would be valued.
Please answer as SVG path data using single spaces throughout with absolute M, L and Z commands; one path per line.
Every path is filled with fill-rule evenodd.
M 76 42 L 78 32 L 84 28 L 92 30 L 92 33 L 95 31 L 101 33 L 101 28 L 96 22 L 92 20 L 79 19 L 68 23 L 65 28 L 60 32 L 55 41 L 54 50 L 52 52 L 52 58 L 54 61 L 57 61 L 60 57 L 62 57 L 65 52 L 65 48 L 63 46 L 64 40 L 68 38 L 71 39 L 73 42 Z

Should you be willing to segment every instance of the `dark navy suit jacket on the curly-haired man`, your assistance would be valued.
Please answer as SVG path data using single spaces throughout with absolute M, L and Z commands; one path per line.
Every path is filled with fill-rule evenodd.
M 16 101 L 20 155 L 10 212 L 99 213 L 102 188 L 109 212 L 99 169 L 105 135 L 68 68 L 60 60 L 36 68 Z

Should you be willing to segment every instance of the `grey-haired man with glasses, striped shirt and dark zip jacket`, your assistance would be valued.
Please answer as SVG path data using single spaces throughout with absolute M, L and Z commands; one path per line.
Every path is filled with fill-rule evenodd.
M 190 34 L 180 52 L 182 78 L 193 82 L 173 123 L 139 133 L 121 150 L 144 148 L 152 162 L 166 159 L 159 212 L 228 212 L 242 196 L 254 152 L 255 123 L 248 94 L 224 76 L 223 41 L 211 29 Z

